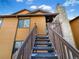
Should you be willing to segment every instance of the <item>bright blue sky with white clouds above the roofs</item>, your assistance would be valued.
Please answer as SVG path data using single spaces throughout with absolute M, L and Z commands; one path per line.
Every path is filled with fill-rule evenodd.
M 55 12 L 58 3 L 65 7 L 69 19 L 79 16 L 79 0 L 0 0 L 0 15 L 12 14 L 22 9 Z

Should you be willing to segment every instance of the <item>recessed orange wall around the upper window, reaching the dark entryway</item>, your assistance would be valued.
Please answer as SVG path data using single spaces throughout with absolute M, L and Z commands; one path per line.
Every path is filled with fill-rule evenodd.
M 45 29 L 46 29 L 46 21 L 44 16 L 36 16 L 36 17 L 20 17 L 19 19 L 30 19 L 30 27 L 29 28 L 18 28 L 17 29 L 17 35 L 16 35 L 16 40 L 17 41 L 22 41 L 25 40 L 26 37 L 29 35 L 29 31 L 32 30 L 34 27 L 35 23 L 37 25 L 37 32 L 38 34 L 46 34 Z

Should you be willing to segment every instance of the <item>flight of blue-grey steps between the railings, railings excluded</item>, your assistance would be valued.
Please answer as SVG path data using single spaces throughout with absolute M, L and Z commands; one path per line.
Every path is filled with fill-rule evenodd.
M 58 59 L 48 36 L 37 36 L 31 59 Z

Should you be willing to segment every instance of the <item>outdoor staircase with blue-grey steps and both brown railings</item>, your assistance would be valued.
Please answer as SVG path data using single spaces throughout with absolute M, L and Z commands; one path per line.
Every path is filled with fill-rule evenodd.
M 56 30 L 59 28 L 52 29 L 51 25 L 48 25 L 50 40 L 48 36 L 37 36 L 35 26 L 12 59 L 79 59 L 79 51 L 65 41 L 62 32 Z

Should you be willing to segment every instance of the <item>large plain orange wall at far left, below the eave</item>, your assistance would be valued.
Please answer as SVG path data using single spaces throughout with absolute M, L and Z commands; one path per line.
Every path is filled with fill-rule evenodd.
M 4 18 L 0 28 L 0 59 L 11 59 L 17 18 Z

